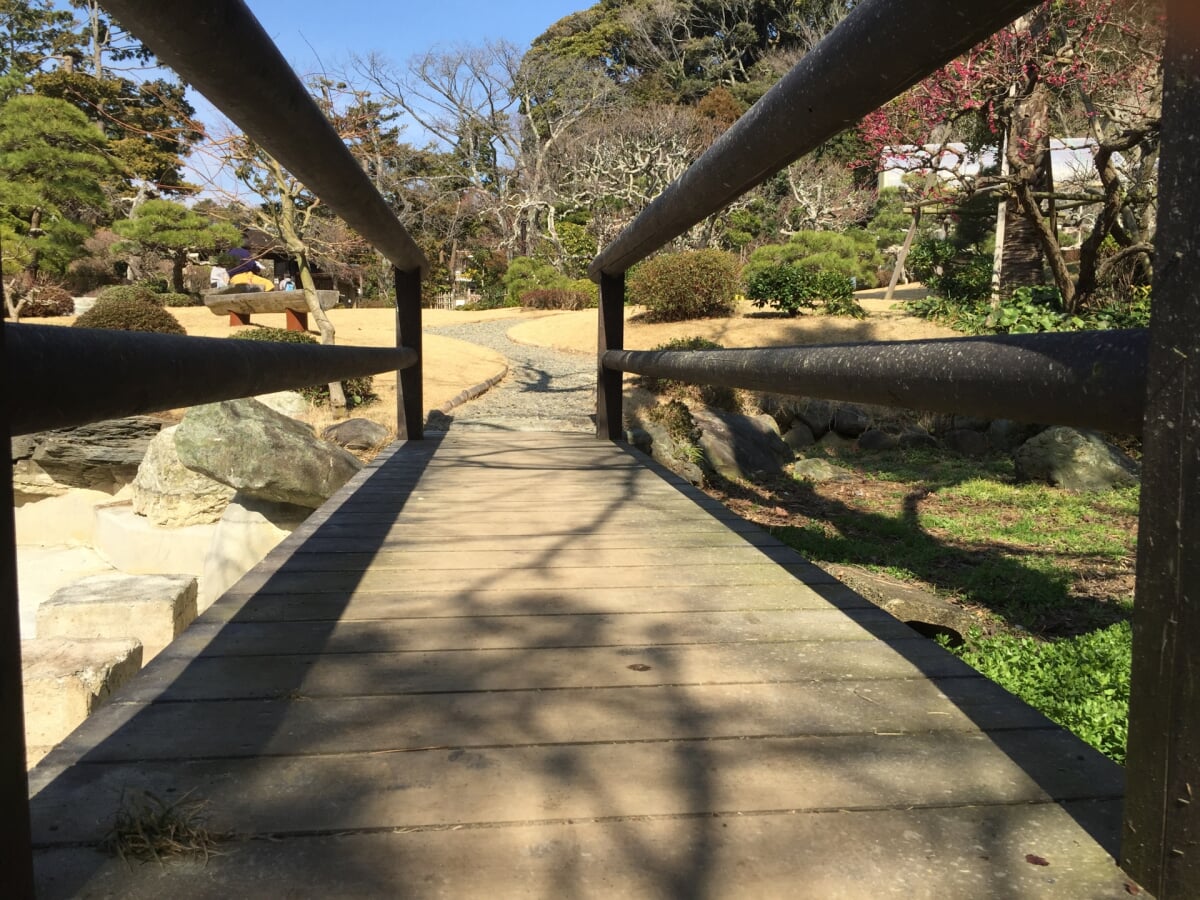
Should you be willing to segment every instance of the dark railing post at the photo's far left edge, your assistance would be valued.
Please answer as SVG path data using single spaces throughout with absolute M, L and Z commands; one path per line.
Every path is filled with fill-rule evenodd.
M 4 288 L 0 287 L 0 304 Z M 0 360 L 5 326 L 0 324 Z M 0 366 L 0 428 L 8 440 L 8 402 L 20 389 Z M 6 896 L 34 896 L 34 857 L 29 826 L 29 779 L 25 775 L 25 709 L 20 673 L 20 606 L 17 598 L 17 529 L 12 514 L 12 479 L 0 492 L 0 827 L 4 848 L 0 871 Z

